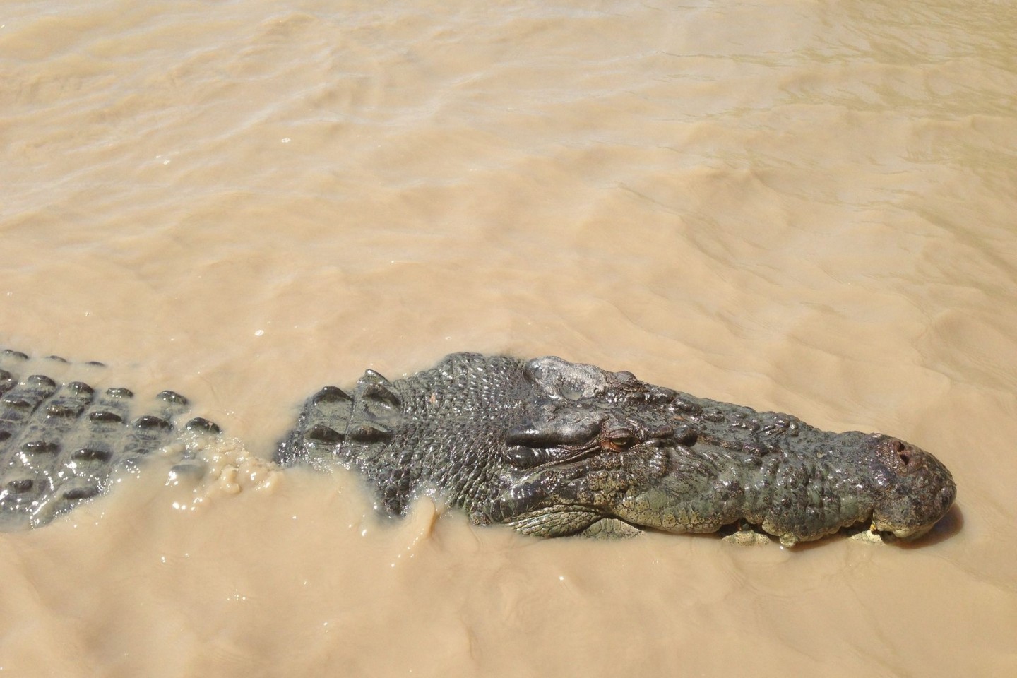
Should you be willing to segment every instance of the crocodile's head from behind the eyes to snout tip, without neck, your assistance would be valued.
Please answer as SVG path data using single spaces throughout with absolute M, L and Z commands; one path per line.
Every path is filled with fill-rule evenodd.
M 542 398 L 505 434 L 507 482 L 484 516 L 524 534 L 706 533 L 744 518 L 792 545 L 872 519 L 912 538 L 953 503 L 949 471 L 896 438 L 800 423 L 766 436 L 729 433 L 737 417 L 715 426 L 682 394 L 629 372 L 558 358 L 530 361 L 525 372 Z

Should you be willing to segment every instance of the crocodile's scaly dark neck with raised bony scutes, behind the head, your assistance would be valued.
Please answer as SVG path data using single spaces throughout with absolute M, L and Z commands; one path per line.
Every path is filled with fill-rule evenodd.
M 354 469 L 391 514 L 434 491 L 487 522 L 483 506 L 506 482 L 497 461 L 503 432 L 533 407 L 524 365 L 461 354 L 396 381 L 368 370 L 352 394 L 326 386 L 311 396 L 277 460 Z

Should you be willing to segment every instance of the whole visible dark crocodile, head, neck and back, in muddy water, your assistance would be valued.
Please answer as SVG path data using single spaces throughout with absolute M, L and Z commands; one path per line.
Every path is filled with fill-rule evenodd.
M 187 403 L 172 391 L 137 416 L 126 389 L 17 375 L 25 358 L 8 351 L 0 365 L 2 530 L 103 493 L 114 469 L 183 432 L 220 433 L 203 419 L 182 423 Z M 785 545 L 856 523 L 914 538 L 956 495 L 935 456 L 896 438 L 822 431 L 553 357 L 453 354 L 393 381 L 368 370 L 349 392 L 309 397 L 276 460 L 355 470 L 385 513 L 434 492 L 476 523 L 541 537 L 743 520 Z M 182 454 L 177 470 L 197 467 Z

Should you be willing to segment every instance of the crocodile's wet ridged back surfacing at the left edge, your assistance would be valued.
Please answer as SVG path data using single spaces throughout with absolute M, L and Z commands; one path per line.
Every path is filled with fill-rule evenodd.
M 162 391 L 151 412 L 137 414 L 126 388 L 58 383 L 25 371 L 27 361 L 22 353 L 0 354 L 2 532 L 46 525 L 103 494 L 116 472 L 135 471 L 183 431 L 219 434 L 201 418 L 178 426 L 188 404 L 174 391 Z

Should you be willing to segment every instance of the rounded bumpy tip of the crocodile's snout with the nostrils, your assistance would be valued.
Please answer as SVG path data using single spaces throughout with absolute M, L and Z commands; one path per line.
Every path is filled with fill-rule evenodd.
M 873 527 L 902 539 L 921 537 L 953 505 L 953 476 L 939 459 L 910 443 L 878 434 L 873 441 L 882 489 L 873 508 Z

